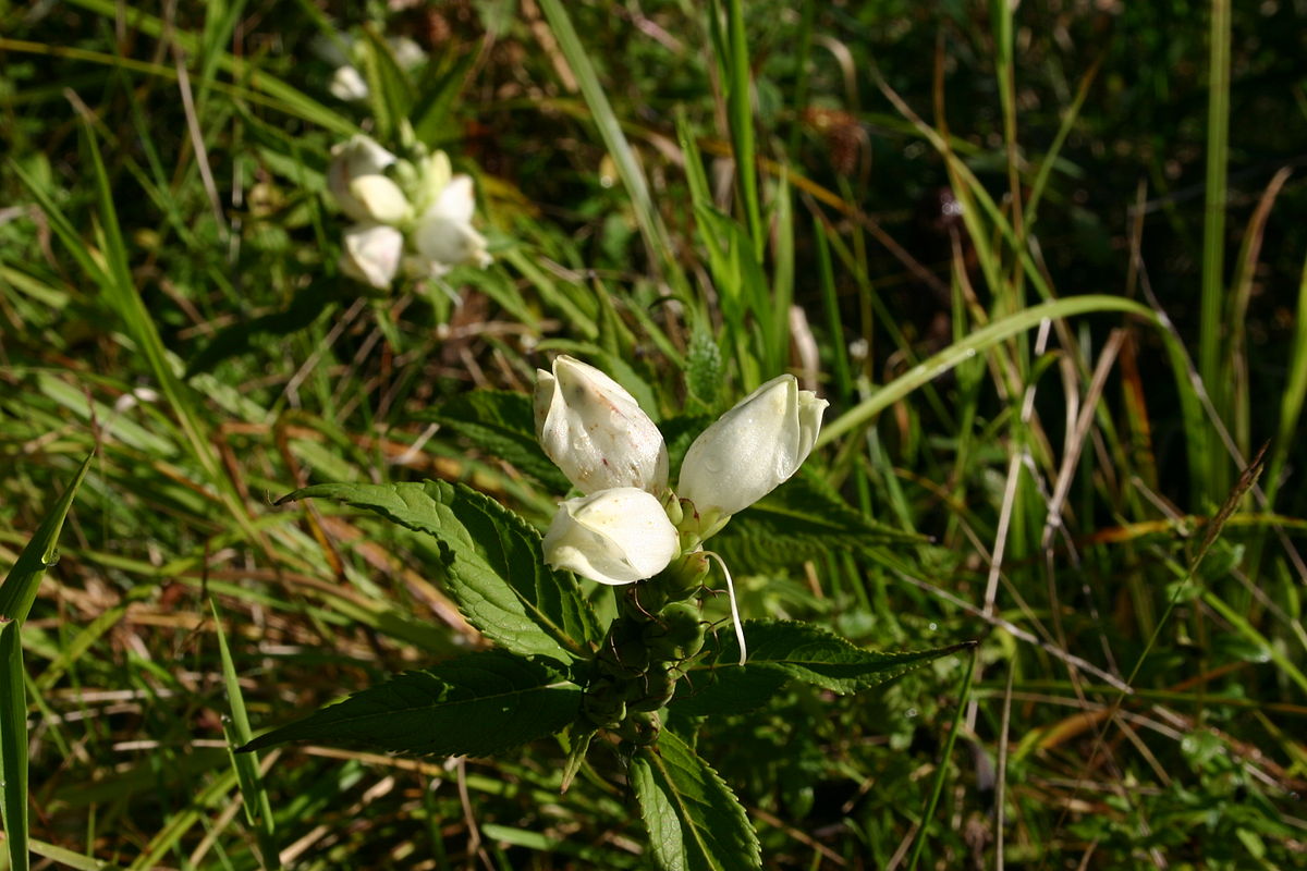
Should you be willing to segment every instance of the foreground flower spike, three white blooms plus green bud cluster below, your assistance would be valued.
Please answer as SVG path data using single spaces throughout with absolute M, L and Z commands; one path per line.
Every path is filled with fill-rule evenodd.
M 608 729 L 631 746 L 648 746 L 661 730 L 659 709 L 704 645 L 693 601 L 708 571 L 703 539 L 799 470 L 826 401 L 800 390 L 792 375 L 767 381 L 690 445 L 673 492 L 663 434 L 621 385 L 570 356 L 537 376 L 540 444 L 582 492 L 558 507 L 545 562 L 626 585 L 591 663 L 582 734 Z M 733 590 L 731 614 L 744 663 Z M 587 743 L 578 742 L 580 755 Z

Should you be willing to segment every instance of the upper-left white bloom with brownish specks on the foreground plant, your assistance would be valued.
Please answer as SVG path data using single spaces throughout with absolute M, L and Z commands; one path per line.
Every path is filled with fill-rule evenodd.
M 558 356 L 553 373 L 536 371 L 540 445 L 582 492 L 667 487 L 663 434 L 635 397 L 593 366 Z

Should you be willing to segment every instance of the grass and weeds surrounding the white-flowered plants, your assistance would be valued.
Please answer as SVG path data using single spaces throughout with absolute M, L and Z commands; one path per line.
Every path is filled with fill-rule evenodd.
M 3 693 L 35 867 L 646 867 L 612 753 L 563 795 L 550 742 L 229 753 L 233 710 L 480 644 L 429 543 L 272 503 L 440 477 L 548 522 L 459 420 L 549 351 L 689 435 L 806 379 L 812 511 L 723 545 L 745 615 L 980 641 L 968 684 L 703 731 L 766 867 L 1307 863 L 1303 0 L 68 0 L 0 34 L 0 565 L 94 451 Z M 403 119 L 495 262 L 365 293 L 323 171 Z M 833 499 L 902 535 L 814 545 Z

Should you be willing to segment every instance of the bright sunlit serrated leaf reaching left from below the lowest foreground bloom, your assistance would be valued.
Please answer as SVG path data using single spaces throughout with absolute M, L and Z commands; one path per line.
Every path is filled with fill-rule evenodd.
M 319 484 L 289 499 L 340 499 L 442 546 L 450 594 L 486 637 L 523 656 L 567 661 L 603 633 L 576 580 L 545 565 L 540 533 L 484 494 L 446 481 Z

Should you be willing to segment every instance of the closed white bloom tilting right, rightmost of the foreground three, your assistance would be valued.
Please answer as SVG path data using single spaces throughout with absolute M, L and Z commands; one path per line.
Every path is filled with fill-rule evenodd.
M 748 508 L 808 458 L 827 405 L 812 390 L 800 390 L 792 375 L 767 381 L 694 440 L 677 495 L 694 503 L 701 517 L 729 517 Z

